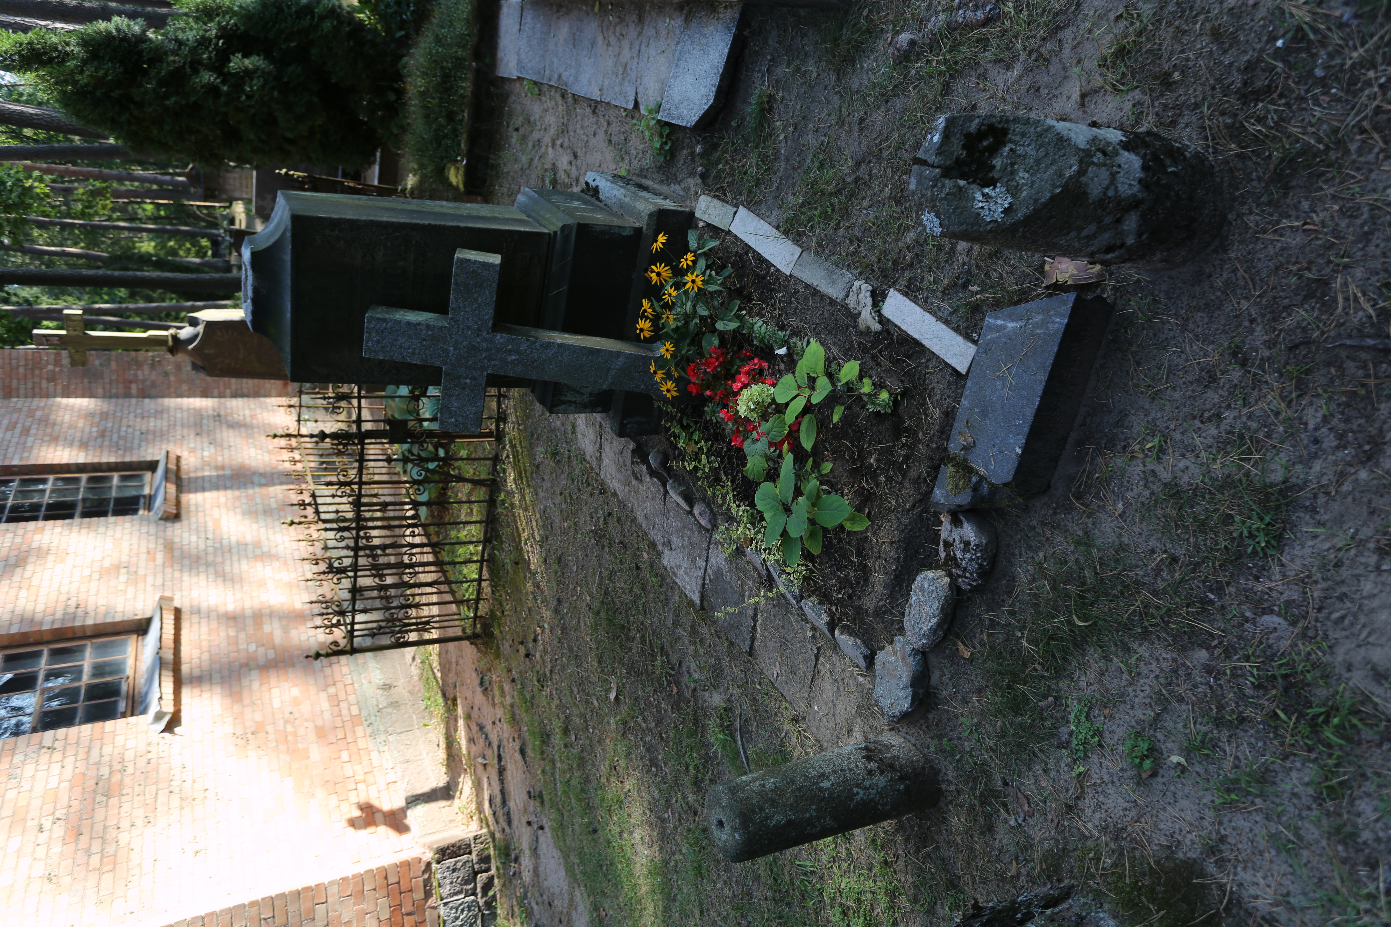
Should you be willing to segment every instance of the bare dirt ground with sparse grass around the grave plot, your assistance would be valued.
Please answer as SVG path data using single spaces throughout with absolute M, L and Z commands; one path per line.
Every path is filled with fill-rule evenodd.
M 719 120 L 673 128 L 661 163 L 630 111 L 488 88 L 490 202 L 574 189 L 590 170 L 690 203 L 707 192 L 971 338 L 988 311 L 1046 292 L 1042 256 L 918 231 L 907 172 L 939 115 L 1181 138 L 1219 164 L 1231 207 L 1200 260 L 1110 268 L 1093 288 L 1117 322 L 1070 450 L 1046 495 L 990 513 L 992 580 L 901 723 L 935 746 L 943 806 L 762 863 L 701 844 L 704 788 L 743 771 L 733 734 L 762 764 L 836 744 L 665 578 L 563 420 L 517 397 L 495 645 L 452 677 L 459 719 L 492 706 L 477 709 L 495 732 L 474 776 L 506 766 L 499 742 L 531 750 L 510 778 L 480 780 L 490 820 L 554 834 L 529 852 L 517 838 L 512 917 L 946 924 L 972 899 L 1066 880 L 1124 924 L 1391 923 L 1391 363 L 1384 342 L 1349 341 L 1391 335 L 1391 13 L 1000 6 L 992 25 L 932 35 L 932 4 L 750 8 Z M 894 60 L 906 31 L 924 42 Z M 912 577 L 936 566 L 926 502 L 964 378 L 892 324 L 860 332 L 737 240 L 716 254 L 753 314 L 897 395 L 892 414 L 851 410 L 826 431 L 832 485 L 872 524 L 832 535 L 804 581 L 883 646 Z M 701 427 L 715 466 L 687 475 L 740 485 Z

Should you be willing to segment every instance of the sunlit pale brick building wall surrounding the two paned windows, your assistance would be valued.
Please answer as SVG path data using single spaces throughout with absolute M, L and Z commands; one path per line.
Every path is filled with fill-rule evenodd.
M 161 593 L 181 613 L 175 728 L 122 719 L 0 739 L 14 923 L 171 923 L 413 853 L 349 667 L 303 659 L 320 638 L 303 545 L 281 524 L 285 454 L 266 438 L 288 425 L 282 403 L 0 402 L 3 464 L 182 459 L 175 521 L 0 525 L 0 643 L 143 621 Z

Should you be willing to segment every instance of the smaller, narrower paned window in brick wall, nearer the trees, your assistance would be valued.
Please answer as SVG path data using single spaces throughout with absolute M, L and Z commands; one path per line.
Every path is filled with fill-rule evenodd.
M 93 473 L 0 478 L 0 524 L 138 516 L 149 499 L 150 474 Z

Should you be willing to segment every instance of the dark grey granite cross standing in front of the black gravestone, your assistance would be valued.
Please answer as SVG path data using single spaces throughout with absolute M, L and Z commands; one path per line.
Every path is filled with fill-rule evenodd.
M 442 368 L 444 431 L 483 428 L 488 374 L 659 395 L 651 374 L 652 361 L 661 357 L 658 345 L 494 325 L 501 261 L 485 252 L 460 247 L 453 253 L 448 315 L 373 306 L 363 327 L 363 357 Z

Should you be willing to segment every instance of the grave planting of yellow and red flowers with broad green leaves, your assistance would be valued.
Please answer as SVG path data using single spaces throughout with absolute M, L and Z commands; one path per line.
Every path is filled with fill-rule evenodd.
M 732 270 L 712 254 L 718 242 L 691 231 L 686 245 L 669 252 L 658 236 L 647 270 L 652 295 L 637 322 L 643 341 L 662 345 L 665 364 L 652 363 L 662 393 L 697 400 L 669 406 L 669 436 L 698 452 L 686 466 L 729 514 L 723 546 L 753 548 L 796 571 L 833 530 L 869 525 L 830 491 L 835 463 L 818 436 L 839 425 L 846 403 L 887 413 L 893 397 L 860 375 L 858 360 L 828 364 L 818 342 L 748 315 L 730 297 Z

